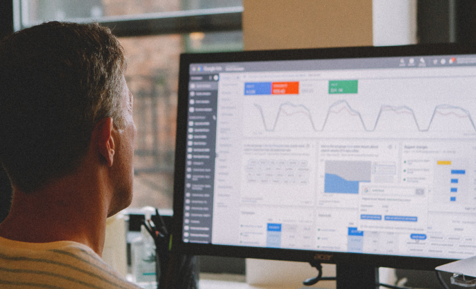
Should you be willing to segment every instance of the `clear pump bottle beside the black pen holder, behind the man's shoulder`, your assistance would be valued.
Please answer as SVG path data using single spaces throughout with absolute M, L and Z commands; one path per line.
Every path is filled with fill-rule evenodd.
M 150 220 L 151 211 L 143 208 L 146 223 Z M 145 289 L 157 289 L 155 271 L 155 243 L 146 228 L 141 226 L 141 236 L 131 242 L 132 279 L 138 286 Z

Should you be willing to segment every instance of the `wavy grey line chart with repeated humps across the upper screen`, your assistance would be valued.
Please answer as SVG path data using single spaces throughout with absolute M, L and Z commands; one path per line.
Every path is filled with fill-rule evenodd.
M 473 118 L 471 117 L 470 112 L 462 107 L 457 107 L 454 105 L 436 105 L 435 108 L 433 109 L 433 114 L 431 115 L 431 118 L 430 118 L 430 121 L 428 122 L 427 127 L 422 127 L 422 125 L 418 122 L 413 109 L 411 109 L 410 107 L 406 105 L 401 105 L 401 106 L 381 105 L 379 109 L 379 113 L 377 114 L 377 118 L 375 119 L 375 123 L 371 127 L 366 126 L 364 119 L 361 116 L 361 113 L 353 109 L 353 107 L 351 107 L 346 100 L 337 100 L 335 103 L 330 105 L 326 113 L 326 118 L 324 120 L 324 123 L 321 125 L 321 127 L 316 126 L 313 120 L 313 114 L 311 113 L 310 109 L 308 109 L 308 107 L 306 107 L 305 105 L 296 105 L 290 102 L 281 103 L 281 105 L 279 105 L 276 117 L 274 121 L 272 121 L 272 125 L 270 126 L 266 125 L 266 118 L 264 116 L 264 111 L 261 105 L 258 105 L 257 103 L 253 103 L 253 105 L 259 112 L 261 121 L 263 122 L 264 130 L 270 131 L 270 132 L 275 131 L 282 114 L 286 116 L 293 116 L 295 114 L 303 114 L 308 118 L 310 125 L 315 132 L 322 132 L 326 128 L 326 125 L 328 124 L 330 116 L 334 114 L 341 114 L 343 112 L 346 112 L 350 116 L 356 116 L 359 119 L 362 127 L 364 128 L 364 131 L 373 132 L 377 129 L 379 125 L 379 121 L 381 121 L 381 117 L 387 111 L 393 112 L 394 114 L 398 114 L 398 115 L 406 114 L 410 116 L 410 118 L 415 122 L 417 130 L 419 132 L 429 131 L 430 128 L 432 127 L 433 122 L 437 118 L 437 116 L 455 116 L 456 118 L 459 118 L 461 120 L 467 120 L 469 123 L 469 127 L 473 131 L 476 131 L 475 122 L 473 121 Z M 301 109 L 301 110 L 290 113 L 287 110 L 288 108 Z

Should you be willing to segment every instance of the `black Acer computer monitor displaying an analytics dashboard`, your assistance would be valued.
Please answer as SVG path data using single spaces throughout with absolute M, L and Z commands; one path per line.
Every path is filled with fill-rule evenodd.
M 476 47 L 180 59 L 172 250 L 433 270 L 476 255 Z

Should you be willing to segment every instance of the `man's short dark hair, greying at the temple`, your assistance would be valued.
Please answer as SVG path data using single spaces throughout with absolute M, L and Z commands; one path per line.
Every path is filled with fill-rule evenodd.
M 31 193 L 75 171 L 104 118 L 126 128 L 125 69 L 97 24 L 43 23 L 0 41 L 0 160 L 14 187 Z

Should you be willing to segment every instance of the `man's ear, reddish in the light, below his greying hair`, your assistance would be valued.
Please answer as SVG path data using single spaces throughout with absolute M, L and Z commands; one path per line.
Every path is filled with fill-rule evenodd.
M 115 134 L 114 123 L 112 118 L 103 118 L 97 122 L 93 133 L 96 138 L 97 148 L 101 154 L 103 160 L 108 164 L 108 167 L 112 167 L 114 162 L 114 153 L 115 153 Z

